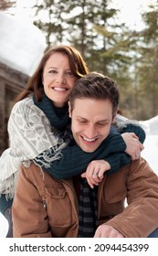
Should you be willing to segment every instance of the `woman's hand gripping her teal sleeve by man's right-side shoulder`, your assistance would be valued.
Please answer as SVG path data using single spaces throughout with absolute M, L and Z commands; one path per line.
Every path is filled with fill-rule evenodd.
M 132 156 L 132 160 L 138 159 L 144 149 L 143 144 L 135 133 L 122 133 L 124 143 L 126 144 L 125 153 Z

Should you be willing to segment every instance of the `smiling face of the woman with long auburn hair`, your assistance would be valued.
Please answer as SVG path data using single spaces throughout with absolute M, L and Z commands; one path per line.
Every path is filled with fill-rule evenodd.
M 71 73 L 66 54 L 56 52 L 47 59 L 42 81 L 47 97 L 56 107 L 60 108 L 68 101 L 68 95 L 76 80 Z

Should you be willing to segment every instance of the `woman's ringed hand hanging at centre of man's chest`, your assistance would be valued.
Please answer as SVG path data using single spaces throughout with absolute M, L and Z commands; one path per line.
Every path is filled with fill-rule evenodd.
M 98 186 L 103 178 L 104 172 L 111 169 L 111 165 L 104 160 L 94 160 L 88 165 L 86 172 L 81 176 L 86 177 L 91 188 Z

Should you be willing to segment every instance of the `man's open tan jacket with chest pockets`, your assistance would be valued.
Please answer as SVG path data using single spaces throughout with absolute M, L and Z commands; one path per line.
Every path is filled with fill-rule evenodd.
M 104 177 L 98 189 L 98 207 L 100 224 L 107 222 L 126 238 L 145 238 L 158 227 L 158 177 L 144 159 L 132 161 Z M 13 225 L 16 238 L 76 238 L 78 199 L 72 180 L 58 181 L 34 164 L 22 166 Z

